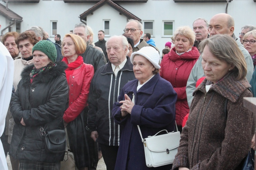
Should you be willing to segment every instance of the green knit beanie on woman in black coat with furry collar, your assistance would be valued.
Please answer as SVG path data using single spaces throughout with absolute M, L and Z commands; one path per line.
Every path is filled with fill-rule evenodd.
M 54 46 L 54 44 L 50 41 L 47 40 L 42 40 L 39 41 L 37 44 L 34 45 L 33 49 L 32 49 L 32 53 L 34 51 L 42 51 L 43 53 L 46 54 L 46 56 L 49 57 L 49 59 L 51 59 L 54 63 L 56 62 L 57 59 L 57 50 Z

